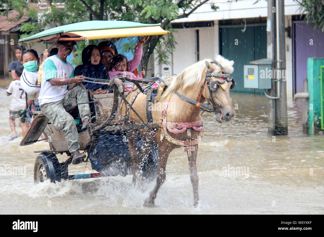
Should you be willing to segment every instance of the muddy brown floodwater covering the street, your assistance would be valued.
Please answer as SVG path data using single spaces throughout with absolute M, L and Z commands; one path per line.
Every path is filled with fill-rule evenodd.
M 238 107 L 232 121 L 219 124 L 203 114 L 205 136 L 197 158 L 200 206 L 192 205 L 188 159 L 177 149 L 169 156 L 157 207 L 144 208 L 148 191 L 134 189 L 132 176 L 34 184 L 33 151 L 49 146 L 41 141 L 20 147 L 19 127 L 19 139 L 8 140 L 9 83 L 0 80 L 0 171 L 7 170 L 0 176 L 0 214 L 324 213 L 324 137 L 302 134 L 301 104 L 288 108 L 289 135 L 272 137 L 266 126 L 267 98 L 232 93 Z M 12 168 L 22 170 L 13 175 L 8 172 Z M 91 172 L 90 163 L 69 167 L 69 174 Z

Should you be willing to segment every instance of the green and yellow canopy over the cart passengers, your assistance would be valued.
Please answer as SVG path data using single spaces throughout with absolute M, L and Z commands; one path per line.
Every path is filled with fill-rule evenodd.
M 73 40 L 120 38 L 128 36 L 166 35 L 161 24 L 143 24 L 131 21 L 83 21 L 44 30 L 33 36 L 19 39 L 19 45 L 41 41 L 55 41 L 60 35 L 69 35 Z M 65 38 L 60 38 L 64 40 Z M 66 40 L 71 38 L 66 38 Z

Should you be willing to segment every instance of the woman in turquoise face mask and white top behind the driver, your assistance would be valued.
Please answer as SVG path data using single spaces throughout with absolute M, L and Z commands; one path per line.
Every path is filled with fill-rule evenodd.
M 21 88 L 29 95 L 35 95 L 41 90 L 41 85 L 37 82 L 38 68 L 40 66 L 40 58 L 36 50 L 27 49 L 22 52 L 22 62 L 24 70 L 20 77 Z M 32 101 L 29 101 L 31 103 Z M 34 100 L 35 109 L 38 110 L 38 99 Z

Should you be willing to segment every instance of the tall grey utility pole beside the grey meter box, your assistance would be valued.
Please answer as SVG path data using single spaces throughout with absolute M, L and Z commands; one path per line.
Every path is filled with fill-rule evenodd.
M 268 90 L 268 129 L 272 135 L 288 135 L 284 1 L 268 0 L 267 57 L 272 59 L 272 88 Z

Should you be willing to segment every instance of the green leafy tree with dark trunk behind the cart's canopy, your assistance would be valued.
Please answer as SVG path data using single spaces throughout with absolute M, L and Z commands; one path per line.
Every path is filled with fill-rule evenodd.
M 37 22 L 24 23 L 21 31 L 26 32 L 22 37 L 36 34 L 46 27 L 55 25 L 66 25 L 87 20 L 126 20 L 147 24 L 160 23 L 161 27 L 171 32 L 167 36 L 151 36 L 149 41 L 143 46 L 143 66 L 146 69 L 147 62 L 154 49 L 158 54 L 158 63 L 169 64 L 168 55 L 176 44 L 172 33 L 174 30 L 170 22 L 175 19 L 188 17 L 198 7 L 209 0 L 60 0 L 64 8 L 58 8 L 52 4 L 52 0 L 47 0 L 48 9 L 39 13 L 36 7 L 30 7 L 25 0 L 0 1 L 6 2 L 7 9 L 16 9 L 20 16 L 24 9 L 28 9 L 31 18 L 38 18 Z M 29 3 L 36 3 L 37 0 L 30 0 Z M 218 9 L 212 5 L 212 9 Z M 26 10 L 25 10 L 26 11 Z M 6 11 L 2 15 L 6 15 Z M 124 45 L 123 49 L 133 48 L 134 39 L 130 44 Z M 81 45 L 82 46 L 82 45 Z M 78 48 L 80 52 L 82 47 Z

